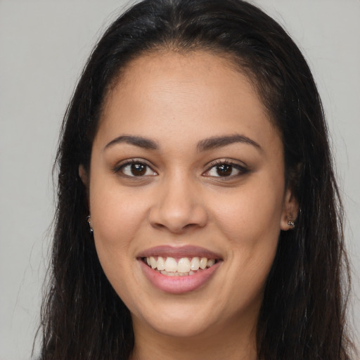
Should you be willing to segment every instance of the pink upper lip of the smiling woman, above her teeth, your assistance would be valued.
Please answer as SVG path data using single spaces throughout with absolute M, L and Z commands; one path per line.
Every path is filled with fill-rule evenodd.
M 221 256 L 215 252 L 200 248 L 194 245 L 184 245 L 179 247 L 160 245 L 140 252 L 137 257 L 206 257 L 207 259 L 221 259 Z

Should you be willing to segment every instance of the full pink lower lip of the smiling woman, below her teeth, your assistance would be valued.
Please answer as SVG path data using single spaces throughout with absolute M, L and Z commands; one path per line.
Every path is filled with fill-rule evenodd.
M 152 283 L 155 288 L 158 288 L 165 293 L 171 294 L 184 294 L 190 291 L 198 290 L 205 283 L 207 283 L 213 276 L 214 272 L 217 271 L 221 262 L 217 262 L 211 267 L 198 271 L 193 275 L 188 276 L 166 276 L 160 272 L 150 268 L 141 259 L 139 259 L 143 274 L 145 274 L 148 281 Z

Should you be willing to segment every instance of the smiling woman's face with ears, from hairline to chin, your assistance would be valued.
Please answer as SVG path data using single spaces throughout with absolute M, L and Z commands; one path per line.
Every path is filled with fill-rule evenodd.
M 280 136 L 247 77 L 200 51 L 133 60 L 105 101 L 90 174 L 79 174 L 135 332 L 253 330 L 296 214 Z

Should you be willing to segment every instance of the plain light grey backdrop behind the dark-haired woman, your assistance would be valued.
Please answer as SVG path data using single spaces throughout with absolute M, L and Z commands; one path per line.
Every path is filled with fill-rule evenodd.
M 323 98 L 347 212 L 360 329 L 360 1 L 255 0 L 302 49 Z M 65 107 L 115 0 L 0 0 L 0 360 L 30 359 Z M 359 342 L 358 342 L 359 343 Z

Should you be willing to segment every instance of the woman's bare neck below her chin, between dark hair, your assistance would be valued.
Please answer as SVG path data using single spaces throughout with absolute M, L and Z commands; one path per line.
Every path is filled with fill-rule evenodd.
M 174 337 L 143 324 L 139 329 L 134 321 L 135 346 L 130 360 L 256 360 L 255 333 L 248 327 L 226 326 L 191 337 Z

